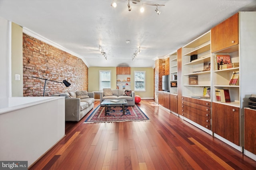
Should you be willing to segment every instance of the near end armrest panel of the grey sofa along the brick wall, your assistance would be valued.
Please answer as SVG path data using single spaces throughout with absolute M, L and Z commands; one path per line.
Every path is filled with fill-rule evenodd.
M 80 98 L 65 98 L 65 120 L 80 120 Z

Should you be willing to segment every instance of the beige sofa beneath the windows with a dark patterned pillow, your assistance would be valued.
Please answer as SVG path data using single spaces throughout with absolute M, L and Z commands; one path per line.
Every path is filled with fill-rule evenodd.
M 128 89 L 114 89 L 104 88 L 103 92 L 100 92 L 100 103 L 105 99 L 126 99 L 126 106 L 135 105 L 135 92 Z M 104 105 L 100 105 L 104 106 Z

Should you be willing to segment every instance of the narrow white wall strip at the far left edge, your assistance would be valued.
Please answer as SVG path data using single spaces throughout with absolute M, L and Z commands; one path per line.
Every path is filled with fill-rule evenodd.
M 0 108 L 8 107 L 11 96 L 10 37 L 11 22 L 0 17 Z

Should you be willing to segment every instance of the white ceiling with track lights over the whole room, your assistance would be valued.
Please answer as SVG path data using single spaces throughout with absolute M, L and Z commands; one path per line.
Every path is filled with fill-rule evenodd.
M 256 11 L 256 0 L 0 0 L 0 16 L 83 58 L 88 66 L 152 67 L 238 11 Z M 130 44 L 126 44 L 130 40 Z M 101 55 L 99 45 L 107 55 Z M 141 53 L 132 61 L 140 46 Z

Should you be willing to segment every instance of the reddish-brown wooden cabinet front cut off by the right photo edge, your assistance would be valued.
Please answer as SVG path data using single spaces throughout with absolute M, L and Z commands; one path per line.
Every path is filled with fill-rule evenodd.
M 244 108 L 244 149 L 256 154 L 256 110 Z

